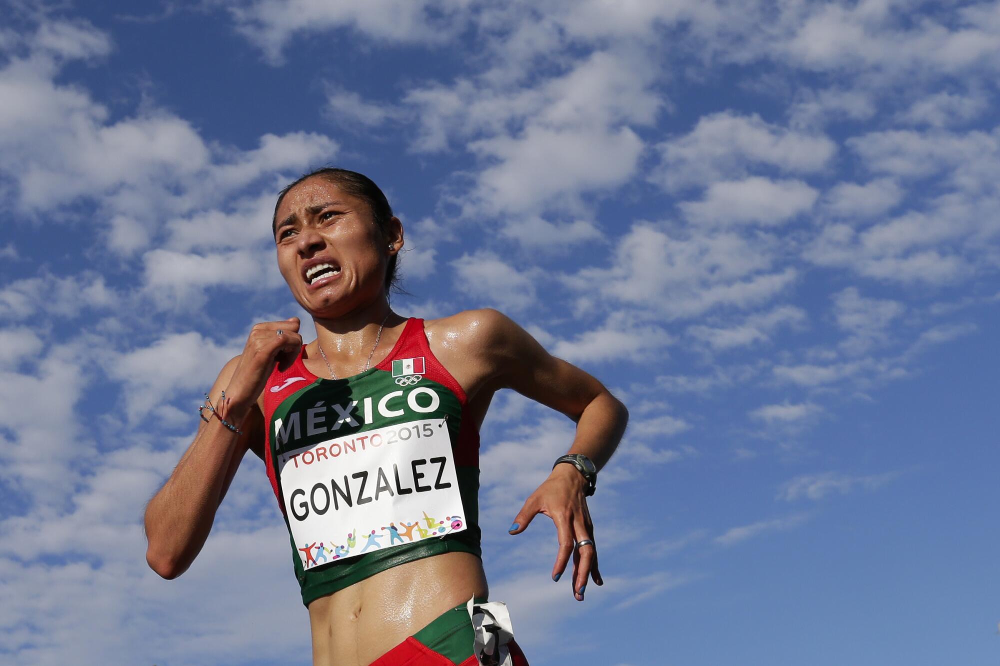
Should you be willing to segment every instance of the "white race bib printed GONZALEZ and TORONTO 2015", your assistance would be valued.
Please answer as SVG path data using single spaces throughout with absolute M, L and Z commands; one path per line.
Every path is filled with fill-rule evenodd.
M 303 569 L 465 529 L 442 419 L 281 453 L 278 474 Z

